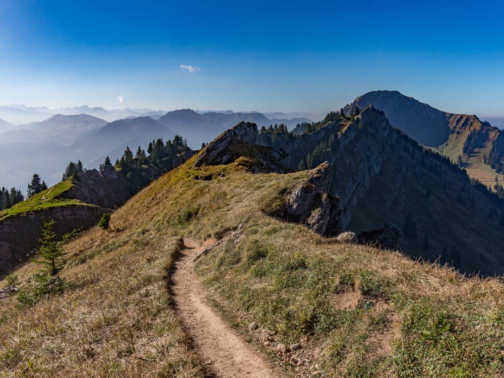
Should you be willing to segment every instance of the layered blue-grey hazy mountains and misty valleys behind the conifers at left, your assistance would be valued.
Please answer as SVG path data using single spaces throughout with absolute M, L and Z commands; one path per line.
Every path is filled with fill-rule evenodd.
M 18 124 L 0 120 L 0 187 L 14 185 L 22 190 L 33 173 L 53 184 L 69 161 L 81 160 L 87 168 L 96 168 L 107 155 L 115 160 L 126 146 L 132 150 L 138 146 L 147 149 L 149 142 L 157 138 L 166 141 L 178 134 L 187 139 L 191 148 L 199 149 L 202 143 L 210 142 L 241 120 L 256 122 L 259 127 L 285 123 L 290 129 L 310 121 L 303 117 L 270 119 L 258 112 L 200 114 L 191 109 L 164 112 L 24 105 L 0 107 L 2 117 Z M 20 120 L 26 122 L 20 124 Z

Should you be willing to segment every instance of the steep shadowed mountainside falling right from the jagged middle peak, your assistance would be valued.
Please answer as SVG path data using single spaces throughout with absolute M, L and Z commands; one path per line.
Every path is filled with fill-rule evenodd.
M 460 140 L 466 129 L 477 130 L 470 118 L 457 117 L 460 127 L 450 129 L 455 130 L 450 138 Z M 314 152 L 317 164 L 329 161 L 333 169 L 329 193 L 339 198 L 342 230 L 359 234 L 387 222 L 403 226 L 411 214 L 421 236 L 402 240 L 406 255 L 431 262 L 439 259 L 467 273 L 504 274 L 504 233 L 497 218 L 487 217 L 489 209 L 503 206 L 502 202 L 471 185 L 465 171 L 392 128 L 383 111 L 368 106 L 353 121 L 340 118 L 298 137 L 261 133 L 258 143 L 287 151 L 291 169 L 306 163 Z M 424 235 L 429 250 L 422 247 Z

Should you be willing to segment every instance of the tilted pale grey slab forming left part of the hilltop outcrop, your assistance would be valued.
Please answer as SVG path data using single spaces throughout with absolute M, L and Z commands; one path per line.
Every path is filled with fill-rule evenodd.
M 203 164 L 220 164 L 222 151 L 229 146 L 231 142 L 241 141 L 254 145 L 257 142 L 258 130 L 257 125 L 251 122 L 241 121 L 233 128 L 226 130 L 216 139 L 208 144 L 203 152 L 196 159 L 194 166 L 199 167 Z M 221 157 L 222 158 L 222 157 Z

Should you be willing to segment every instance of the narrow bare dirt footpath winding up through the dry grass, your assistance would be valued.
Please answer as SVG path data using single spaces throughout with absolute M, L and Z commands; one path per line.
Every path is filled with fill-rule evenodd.
M 248 345 L 219 316 L 205 298 L 191 261 L 210 242 L 198 245 L 184 240 L 170 274 L 174 307 L 187 328 L 193 346 L 218 377 L 277 378 L 284 376 Z

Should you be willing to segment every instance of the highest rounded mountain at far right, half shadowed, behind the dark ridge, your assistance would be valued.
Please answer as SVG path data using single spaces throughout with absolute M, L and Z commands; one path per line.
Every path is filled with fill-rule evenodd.
M 476 115 L 437 110 L 398 91 L 366 93 L 347 105 L 345 112 L 368 105 L 383 110 L 392 125 L 418 143 L 438 149 L 485 185 L 493 186 L 495 176 L 499 181 L 504 178 L 502 132 Z

